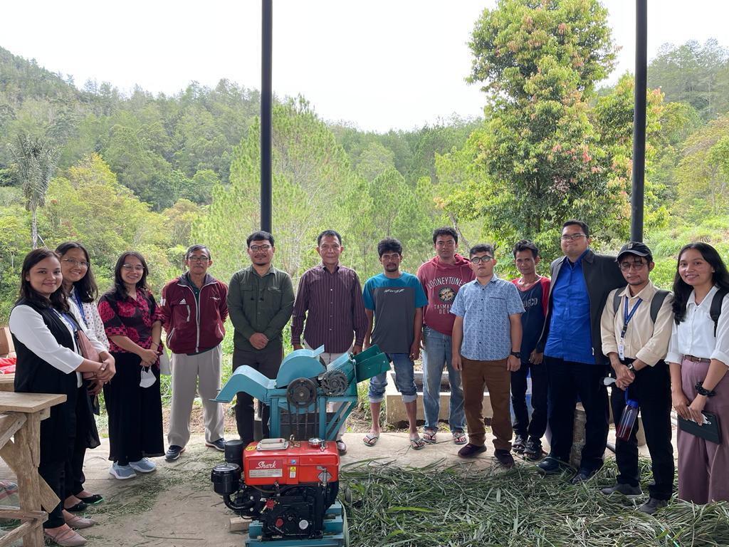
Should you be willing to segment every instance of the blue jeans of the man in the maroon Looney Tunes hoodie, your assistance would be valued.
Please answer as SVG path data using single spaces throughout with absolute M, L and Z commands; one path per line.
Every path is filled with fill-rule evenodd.
M 466 414 L 463 409 L 463 388 L 461 373 L 451 365 L 451 336 L 439 333 L 430 327 L 423 327 L 423 407 L 425 427 L 438 429 L 440 413 L 440 379 L 443 367 L 448 367 L 448 381 L 451 384 L 451 407 L 448 425 L 451 431 L 466 429 Z

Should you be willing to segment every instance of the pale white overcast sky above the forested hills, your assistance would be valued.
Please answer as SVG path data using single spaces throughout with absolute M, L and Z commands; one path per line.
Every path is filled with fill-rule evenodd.
M 410 129 L 482 113 L 466 42 L 494 0 L 273 0 L 273 90 L 303 94 L 326 120 Z M 260 0 L 5 2 L 0 47 L 50 71 L 173 94 L 196 80 L 260 88 Z M 634 69 L 633 0 L 604 0 L 622 46 L 610 78 Z M 648 58 L 660 44 L 724 46 L 726 0 L 649 0 Z

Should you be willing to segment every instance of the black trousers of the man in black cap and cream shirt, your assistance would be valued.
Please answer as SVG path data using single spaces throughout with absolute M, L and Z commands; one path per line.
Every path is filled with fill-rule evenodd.
M 630 360 L 625 360 L 628 364 Z M 670 500 L 674 490 L 674 447 L 671 445 L 671 375 L 666 362 L 658 361 L 654 367 L 645 367 L 635 373 L 628 387 L 628 397 L 637 401 L 645 430 L 645 441 L 650 451 L 653 482 L 648 485 L 650 497 Z M 612 387 L 610 395 L 612 416 L 620 423 L 625 410 L 625 392 Z M 639 486 L 638 422 L 628 441 L 615 441 L 615 459 L 620 474 L 617 482 Z

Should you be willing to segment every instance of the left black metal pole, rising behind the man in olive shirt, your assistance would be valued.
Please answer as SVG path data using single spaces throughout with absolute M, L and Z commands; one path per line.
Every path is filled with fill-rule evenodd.
M 261 17 L 261 230 L 271 231 L 271 133 L 273 132 L 273 0 L 262 0 Z

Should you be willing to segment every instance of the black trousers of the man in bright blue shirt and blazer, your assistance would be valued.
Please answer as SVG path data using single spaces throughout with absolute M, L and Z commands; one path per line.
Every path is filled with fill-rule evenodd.
M 585 408 L 585 446 L 582 447 L 580 470 L 599 470 L 607 446 L 609 410 L 605 365 L 585 365 L 545 355 L 549 378 L 549 427 L 552 430 L 550 456 L 569 460 L 572 450 L 574 406 L 580 397 Z

